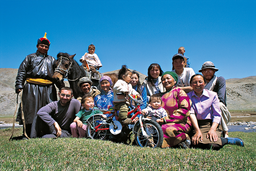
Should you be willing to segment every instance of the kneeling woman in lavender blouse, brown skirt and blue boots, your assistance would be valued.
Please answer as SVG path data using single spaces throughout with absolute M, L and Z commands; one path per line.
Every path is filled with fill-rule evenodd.
M 187 95 L 192 101 L 189 118 L 194 129 L 191 130 L 192 146 L 203 149 L 220 149 L 225 144 L 244 146 L 240 138 L 222 138 L 220 101 L 217 93 L 205 88 L 205 78 L 196 74 L 190 79 L 192 92 Z

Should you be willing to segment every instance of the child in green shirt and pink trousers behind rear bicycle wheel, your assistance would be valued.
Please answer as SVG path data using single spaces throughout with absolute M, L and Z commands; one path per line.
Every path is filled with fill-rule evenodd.
M 86 121 L 93 115 L 93 110 L 89 108 L 96 108 L 94 107 L 93 97 L 91 95 L 84 95 L 81 100 L 81 107 L 82 108 L 75 116 L 73 123 L 70 124 L 70 129 L 73 137 L 85 137 L 86 136 L 86 128 L 87 123 Z M 102 113 L 99 110 L 94 110 L 94 114 Z

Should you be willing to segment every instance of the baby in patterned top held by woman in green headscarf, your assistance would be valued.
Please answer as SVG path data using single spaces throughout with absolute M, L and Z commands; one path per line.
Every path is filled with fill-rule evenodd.
M 167 117 L 168 114 L 165 111 L 164 108 L 162 108 L 162 98 L 159 94 L 153 94 L 149 98 L 149 104 L 146 109 L 143 109 L 142 112 L 144 112 L 148 117 L 151 117 L 152 120 L 156 122 L 160 122 L 164 119 L 164 117 Z

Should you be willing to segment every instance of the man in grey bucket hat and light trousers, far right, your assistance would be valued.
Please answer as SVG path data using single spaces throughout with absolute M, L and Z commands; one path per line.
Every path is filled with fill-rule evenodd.
M 221 110 L 221 127 L 222 135 L 224 138 L 228 136 L 228 123 L 231 119 L 231 114 L 226 107 L 226 80 L 223 77 L 216 77 L 214 74 L 219 69 L 215 68 L 214 64 L 210 61 L 203 63 L 202 68 L 199 70 L 203 77 L 206 79 L 205 89 L 211 90 L 217 93 L 220 100 Z

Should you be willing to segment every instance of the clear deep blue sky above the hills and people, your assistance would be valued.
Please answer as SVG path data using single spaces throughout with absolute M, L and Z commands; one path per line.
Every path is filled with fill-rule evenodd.
M 185 47 L 195 73 L 212 61 L 217 76 L 256 76 L 256 1 L 0 1 L 0 68 L 19 68 L 36 52 L 88 52 L 93 43 L 103 67 L 126 64 L 147 75 L 151 63 L 172 70 L 172 56 Z

